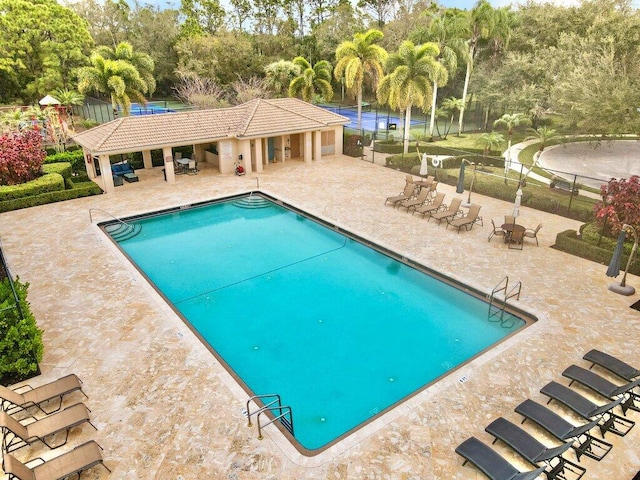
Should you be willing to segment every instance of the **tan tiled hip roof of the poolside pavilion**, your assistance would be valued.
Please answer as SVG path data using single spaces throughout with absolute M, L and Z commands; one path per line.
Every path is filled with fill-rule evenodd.
M 347 117 L 297 98 L 255 99 L 229 108 L 122 117 L 73 138 L 94 155 L 108 155 L 313 131 L 348 122 Z

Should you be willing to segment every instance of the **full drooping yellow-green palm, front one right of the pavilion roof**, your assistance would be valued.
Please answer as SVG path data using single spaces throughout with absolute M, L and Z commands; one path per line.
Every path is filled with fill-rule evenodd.
M 411 133 L 411 107 L 422 107 L 426 111 L 431 106 L 431 82 L 445 85 L 447 69 L 436 60 L 440 54 L 438 45 L 427 42 L 414 45 L 405 40 L 398 53 L 387 60 L 389 73 L 380 81 L 377 98 L 380 103 L 388 103 L 394 110 L 404 110 L 404 153 L 409 151 Z

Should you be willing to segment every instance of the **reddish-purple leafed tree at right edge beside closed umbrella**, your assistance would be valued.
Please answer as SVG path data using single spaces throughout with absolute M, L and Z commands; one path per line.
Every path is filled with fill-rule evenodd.
M 615 235 L 623 224 L 640 226 L 640 177 L 633 175 L 628 180 L 612 178 L 600 188 L 602 202 L 598 202 L 594 211 L 598 223 L 606 225 Z

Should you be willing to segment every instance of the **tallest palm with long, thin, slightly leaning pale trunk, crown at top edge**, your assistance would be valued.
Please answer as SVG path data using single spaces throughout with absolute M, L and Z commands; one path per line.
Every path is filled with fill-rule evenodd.
M 462 90 L 462 100 L 467 102 L 467 92 L 469 90 L 469 80 L 471 79 L 471 70 L 473 70 L 473 60 L 478 50 L 480 40 L 506 39 L 509 35 L 506 13 L 504 10 L 495 10 L 488 0 L 479 0 L 476 6 L 468 12 L 467 17 L 467 33 L 469 45 L 469 55 L 467 57 L 467 71 L 464 78 L 464 88 Z M 458 136 L 463 131 L 464 118 L 463 105 L 460 110 L 460 118 L 458 119 Z

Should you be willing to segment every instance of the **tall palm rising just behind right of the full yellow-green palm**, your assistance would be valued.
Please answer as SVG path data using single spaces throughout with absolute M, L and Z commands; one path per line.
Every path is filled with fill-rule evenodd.
M 440 63 L 447 69 L 449 77 L 455 75 L 458 69 L 458 59 L 468 61 L 469 49 L 463 40 L 464 13 L 461 11 L 447 10 L 443 15 L 430 15 L 431 23 L 426 30 L 418 30 L 416 42 L 432 41 L 440 48 Z M 429 135 L 433 138 L 433 128 L 436 123 L 436 103 L 438 97 L 437 82 L 433 82 L 433 99 L 431 101 L 431 119 L 429 121 Z

